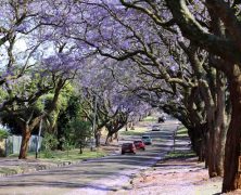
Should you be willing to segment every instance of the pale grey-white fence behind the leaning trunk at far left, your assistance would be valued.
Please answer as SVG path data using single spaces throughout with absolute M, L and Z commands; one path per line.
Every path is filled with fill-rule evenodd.
M 28 144 L 28 152 L 35 152 L 37 146 L 37 135 L 31 135 Z M 41 146 L 42 138 L 39 140 Z M 21 148 L 22 136 L 11 135 L 8 139 L 0 140 L 0 156 L 9 156 L 10 154 L 18 154 Z

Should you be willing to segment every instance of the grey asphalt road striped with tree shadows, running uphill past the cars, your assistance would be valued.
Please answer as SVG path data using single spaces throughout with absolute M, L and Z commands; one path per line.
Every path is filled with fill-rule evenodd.
M 107 194 L 125 187 L 131 176 L 152 166 L 172 150 L 176 121 L 161 125 L 161 131 L 148 131 L 153 144 L 136 155 L 112 155 L 79 165 L 39 171 L 29 174 L 0 178 L 0 194 L 23 195 L 74 195 Z M 129 139 L 129 140 L 128 140 Z M 123 142 L 140 139 L 129 136 Z

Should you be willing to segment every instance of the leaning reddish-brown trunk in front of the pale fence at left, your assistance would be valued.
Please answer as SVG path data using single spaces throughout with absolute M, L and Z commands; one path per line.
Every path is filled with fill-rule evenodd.
M 29 139 L 31 136 L 31 132 L 29 130 L 28 126 L 24 126 L 24 129 L 22 129 L 22 142 L 21 142 L 21 150 L 18 159 L 26 159 L 27 158 L 27 150 L 28 150 L 28 143 Z

